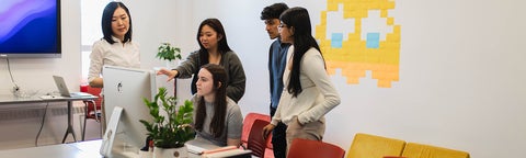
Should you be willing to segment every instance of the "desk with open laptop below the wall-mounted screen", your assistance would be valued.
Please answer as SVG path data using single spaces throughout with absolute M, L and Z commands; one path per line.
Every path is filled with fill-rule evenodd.
M 77 137 L 75 136 L 73 131 L 73 116 L 71 113 L 71 109 L 73 106 L 73 101 L 94 101 L 98 97 L 89 95 L 89 97 L 78 97 L 78 98 L 68 98 L 68 97 L 49 97 L 49 98 L 39 98 L 37 97 L 30 97 L 30 98 L 18 98 L 12 94 L 2 94 L 0 95 L 0 105 L 1 104 L 21 104 L 21 103 L 49 103 L 49 102 L 67 102 L 68 103 L 68 128 L 66 129 L 66 134 L 62 138 L 62 144 L 66 142 L 68 134 L 73 136 L 73 140 L 77 142 Z

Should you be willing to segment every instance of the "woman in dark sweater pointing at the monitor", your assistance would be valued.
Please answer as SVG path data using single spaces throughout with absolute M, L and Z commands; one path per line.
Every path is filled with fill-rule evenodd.
M 167 75 L 169 80 L 173 78 L 192 79 L 192 94 L 197 90 L 197 72 L 201 66 L 206 64 L 216 64 L 225 67 L 229 76 L 227 95 L 238 102 L 244 94 L 247 78 L 244 76 L 243 65 L 238 55 L 228 46 L 227 35 L 222 24 L 217 19 L 207 19 L 199 24 L 197 31 L 197 43 L 199 49 L 190 54 L 180 66 L 172 70 L 160 69 L 158 75 Z

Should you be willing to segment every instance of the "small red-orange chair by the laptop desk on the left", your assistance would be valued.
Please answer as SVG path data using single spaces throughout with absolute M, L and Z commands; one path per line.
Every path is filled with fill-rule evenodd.
M 100 135 L 102 137 L 103 132 L 102 132 L 102 123 L 101 123 L 101 119 L 102 119 L 102 112 L 101 112 L 102 98 L 100 95 L 101 90 L 102 90 L 101 88 L 88 87 L 87 92 L 90 94 L 96 95 L 98 99 L 94 101 L 84 101 L 84 124 L 82 127 L 82 140 L 84 140 L 84 137 L 85 137 L 87 120 L 95 120 L 100 124 L 100 127 L 101 127 Z

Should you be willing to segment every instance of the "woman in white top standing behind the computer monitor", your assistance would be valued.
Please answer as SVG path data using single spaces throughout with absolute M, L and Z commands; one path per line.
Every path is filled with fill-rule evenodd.
M 88 81 L 102 88 L 102 66 L 140 68 L 139 47 L 132 42 L 132 16 L 123 2 L 110 2 L 102 13 L 104 37 L 93 44 Z

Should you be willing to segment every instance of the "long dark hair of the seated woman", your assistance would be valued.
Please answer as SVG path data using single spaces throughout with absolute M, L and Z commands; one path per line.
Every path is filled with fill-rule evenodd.
M 214 101 L 214 116 L 211 117 L 209 128 L 214 137 L 219 137 L 225 131 L 225 120 L 227 115 L 227 70 L 225 70 L 222 66 L 215 64 L 204 65 L 202 69 L 208 70 L 214 79 L 214 91 L 216 95 Z M 201 97 L 195 115 L 195 129 L 203 131 L 206 115 L 205 99 Z

